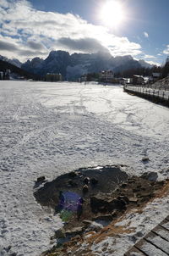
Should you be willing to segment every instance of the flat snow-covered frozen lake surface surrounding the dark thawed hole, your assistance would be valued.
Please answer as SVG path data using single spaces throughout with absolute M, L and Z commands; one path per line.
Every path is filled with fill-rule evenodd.
M 0 255 L 50 247 L 61 223 L 35 202 L 40 175 L 97 164 L 167 174 L 169 109 L 121 86 L 0 81 L 0 112 Z

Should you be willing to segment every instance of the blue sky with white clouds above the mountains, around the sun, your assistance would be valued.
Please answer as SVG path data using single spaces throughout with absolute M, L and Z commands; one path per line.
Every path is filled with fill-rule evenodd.
M 101 19 L 107 2 L 123 8 L 119 25 Z M 169 54 L 168 10 L 169 0 L 1 0 L 0 54 L 24 61 L 58 49 L 109 51 L 161 64 Z

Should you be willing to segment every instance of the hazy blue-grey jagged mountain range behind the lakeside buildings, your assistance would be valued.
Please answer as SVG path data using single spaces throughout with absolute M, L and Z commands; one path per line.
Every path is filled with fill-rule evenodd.
M 135 60 L 132 56 L 112 57 L 110 53 L 73 53 L 65 51 L 52 51 L 47 58 L 35 57 L 21 64 L 17 59 L 8 59 L 0 56 L 0 59 L 26 70 L 35 75 L 44 76 L 46 73 L 61 73 L 64 80 L 75 80 L 87 73 L 100 72 L 101 70 L 113 70 L 115 73 L 123 70 L 152 67 L 144 60 Z

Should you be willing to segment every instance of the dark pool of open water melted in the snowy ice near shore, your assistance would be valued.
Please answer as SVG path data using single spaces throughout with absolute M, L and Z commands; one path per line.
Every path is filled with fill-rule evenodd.
M 128 175 L 121 166 L 98 166 L 74 170 L 68 174 L 60 175 L 56 180 L 46 184 L 34 193 L 35 199 L 42 206 L 56 209 L 59 204 L 59 192 L 75 193 L 85 200 L 98 192 L 113 191 Z M 88 180 L 88 181 L 87 181 Z M 85 186 L 86 185 L 86 186 Z M 84 187 L 87 187 L 86 191 Z

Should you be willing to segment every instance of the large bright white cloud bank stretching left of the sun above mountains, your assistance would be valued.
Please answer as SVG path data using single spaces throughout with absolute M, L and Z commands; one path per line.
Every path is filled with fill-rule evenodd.
M 107 49 L 113 56 L 142 53 L 138 43 L 115 36 L 104 26 L 92 25 L 74 14 L 36 10 L 26 0 L 1 0 L 0 18 L 0 40 L 14 44 L 13 52 L 12 45 L 5 48 L 2 43 L 4 49 L 0 49 L 0 54 L 5 53 L 9 58 L 11 53 L 21 60 L 28 56 L 46 57 L 52 49 L 69 53 L 95 53 Z

